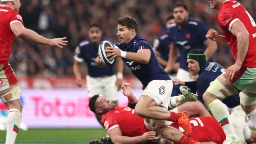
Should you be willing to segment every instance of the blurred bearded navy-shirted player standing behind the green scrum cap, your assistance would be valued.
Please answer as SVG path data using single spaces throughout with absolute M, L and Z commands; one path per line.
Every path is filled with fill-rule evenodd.
M 180 68 L 177 78 L 182 81 L 194 81 L 194 77 L 188 72 L 187 54 L 192 49 L 202 49 L 209 61 L 213 61 L 213 54 L 217 50 L 217 44 L 210 41 L 205 35 L 208 32 L 207 26 L 192 17 L 189 17 L 188 8 L 182 2 L 174 5 L 173 15 L 176 23 L 169 26 L 169 37 L 172 41 L 168 64 L 165 71 L 170 73 L 174 69 L 175 61 L 179 57 Z

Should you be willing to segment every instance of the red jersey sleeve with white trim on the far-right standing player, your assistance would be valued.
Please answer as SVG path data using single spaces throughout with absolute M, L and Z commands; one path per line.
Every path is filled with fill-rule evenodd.
M 222 11 L 218 16 L 218 20 L 221 26 L 230 31 L 234 22 L 240 19 L 229 11 Z

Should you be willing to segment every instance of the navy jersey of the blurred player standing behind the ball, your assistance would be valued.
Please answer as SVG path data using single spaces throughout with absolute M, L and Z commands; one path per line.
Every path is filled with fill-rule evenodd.
M 112 40 L 109 40 L 107 38 L 101 37 L 101 42 L 102 41 L 110 41 L 113 43 Z M 82 62 L 83 60 L 86 62 L 88 66 L 88 74 L 91 77 L 102 77 L 102 76 L 111 76 L 113 75 L 114 68 L 113 67 L 103 67 L 103 68 L 98 68 L 96 66 L 96 58 L 98 56 L 98 45 L 93 45 L 90 42 L 90 38 L 86 38 L 82 40 L 79 45 L 76 48 L 76 56 L 75 59 L 78 60 L 79 62 Z

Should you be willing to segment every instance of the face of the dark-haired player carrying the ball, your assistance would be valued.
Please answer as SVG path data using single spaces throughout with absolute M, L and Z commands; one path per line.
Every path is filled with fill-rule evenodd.
M 117 37 L 118 37 L 119 43 L 126 45 L 133 38 L 131 35 L 132 29 L 129 30 L 126 26 L 118 25 L 117 30 L 118 30 Z

